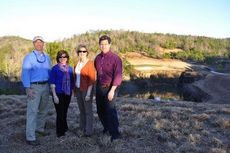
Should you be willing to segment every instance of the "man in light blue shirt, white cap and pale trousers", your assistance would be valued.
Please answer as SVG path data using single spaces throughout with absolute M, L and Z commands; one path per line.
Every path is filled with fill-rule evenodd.
M 44 53 L 41 36 L 33 39 L 34 50 L 27 54 L 22 64 L 21 80 L 27 95 L 26 140 L 29 145 L 39 145 L 36 133 L 45 135 L 45 119 L 49 108 L 49 71 L 51 61 Z

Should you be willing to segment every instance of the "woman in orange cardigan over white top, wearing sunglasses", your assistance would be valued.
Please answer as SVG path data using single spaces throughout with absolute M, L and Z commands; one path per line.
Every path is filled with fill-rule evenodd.
M 74 67 L 77 103 L 80 110 L 80 128 L 85 136 L 93 133 L 93 85 L 96 80 L 94 62 L 88 59 L 86 45 L 79 45 L 76 53 L 79 57 Z

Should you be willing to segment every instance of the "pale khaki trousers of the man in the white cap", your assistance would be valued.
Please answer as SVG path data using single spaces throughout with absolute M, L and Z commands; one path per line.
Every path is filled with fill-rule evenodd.
M 26 140 L 36 140 L 35 131 L 44 131 L 46 116 L 50 107 L 49 84 L 32 84 L 35 98 L 27 97 Z

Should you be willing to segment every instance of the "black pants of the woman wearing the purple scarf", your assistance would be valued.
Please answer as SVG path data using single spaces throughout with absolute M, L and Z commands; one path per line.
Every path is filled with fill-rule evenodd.
M 57 136 L 65 135 L 65 132 L 68 130 L 67 125 L 67 112 L 71 100 L 71 95 L 59 94 L 57 93 L 59 103 L 55 104 L 55 109 L 57 113 L 56 118 L 56 134 Z

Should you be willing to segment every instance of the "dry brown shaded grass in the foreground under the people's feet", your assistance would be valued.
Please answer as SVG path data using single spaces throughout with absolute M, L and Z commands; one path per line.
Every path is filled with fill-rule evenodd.
M 55 111 L 49 111 L 46 130 L 50 136 L 38 137 L 41 145 L 25 143 L 25 96 L 0 96 L 1 153 L 228 153 L 230 151 L 230 105 L 178 101 L 118 98 L 122 139 L 110 142 L 94 103 L 94 135 L 82 137 L 75 99 L 68 114 L 69 131 L 55 135 Z

